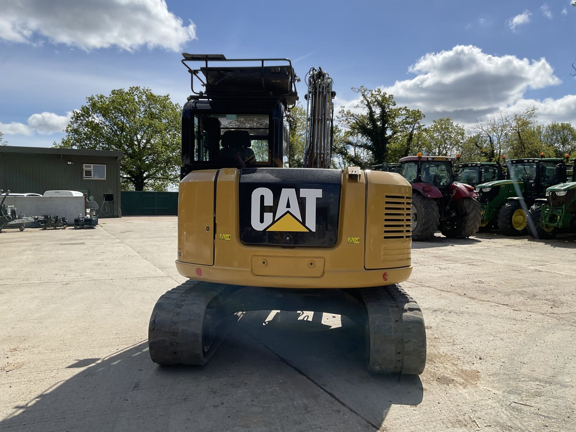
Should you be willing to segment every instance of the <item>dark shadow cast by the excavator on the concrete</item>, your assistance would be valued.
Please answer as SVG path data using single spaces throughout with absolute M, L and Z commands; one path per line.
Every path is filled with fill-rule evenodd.
M 102 359 L 14 408 L 3 431 L 374 430 L 417 405 L 419 377 L 372 375 L 356 326 L 242 317 L 204 367 L 161 367 L 147 342 Z M 264 316 L 264 319 L 262 319 Z

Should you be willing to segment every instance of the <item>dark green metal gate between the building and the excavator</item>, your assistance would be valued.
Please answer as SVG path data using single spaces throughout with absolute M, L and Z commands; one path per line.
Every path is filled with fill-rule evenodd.
M 176 216 L 178 192 L 120 192 L 123 216 Z

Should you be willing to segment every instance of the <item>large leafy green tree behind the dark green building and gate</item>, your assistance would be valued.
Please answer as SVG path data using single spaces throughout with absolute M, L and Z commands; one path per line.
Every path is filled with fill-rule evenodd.
M 166 190 L 179 180 L 180 111 L 170 97 L 131 87 L 97 94 L 74 112 L 55 147 L 120 150 L 123 187 Z

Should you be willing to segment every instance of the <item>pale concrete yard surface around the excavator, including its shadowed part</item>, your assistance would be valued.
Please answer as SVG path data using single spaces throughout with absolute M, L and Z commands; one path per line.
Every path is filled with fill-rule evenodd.
M 242 317 L 205 367 L 152 363 L 176 218 L 2 233 L 0 430 L 576 430 L 576 237 L 435 240 L 403 283 L 426 370 L 398 377 L 366 372 L 348 321 L 283 312 Z

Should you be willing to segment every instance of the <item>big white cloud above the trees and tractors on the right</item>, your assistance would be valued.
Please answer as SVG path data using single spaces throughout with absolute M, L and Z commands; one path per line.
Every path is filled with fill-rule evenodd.
M 529 106 L 540 109 L 539 118 L 543 122 L 576 120 L 576 96 L 543 101 L 524 99 L 530 89 L 562 82 L 544 58 L 497 56 L 475 46 L 456 46 L 426 54 L 408 71 L 416 77 L 381 89 L 393 94 L 399 106 L 420 109 L 426 115 L 426 123 L 448 116 L 470 125 L 501 110 L 517 112 Z M 361 111 L 354 108 L 358 100 L 338 99 L 335 104 Z

